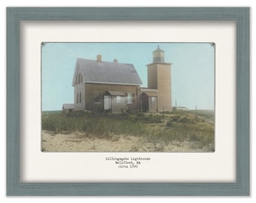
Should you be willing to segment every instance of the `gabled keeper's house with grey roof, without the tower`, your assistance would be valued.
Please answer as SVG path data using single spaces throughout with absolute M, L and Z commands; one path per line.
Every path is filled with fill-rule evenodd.
M 72 85 L 75 111 L 122 112 L 136 110 L 142 80 L 132 64 L 78 59 Z

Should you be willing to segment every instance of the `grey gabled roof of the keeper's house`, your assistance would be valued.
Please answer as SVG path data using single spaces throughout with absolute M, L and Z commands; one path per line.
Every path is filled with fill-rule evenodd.
M 133 64 L 77 59 L 73 86 L 75 86 L 75 78 L 78 73 L 82 74 L 84 83 L 110 83 L 138 86 L 142 84 L 142 80 L 139 78 L 139 74 Z

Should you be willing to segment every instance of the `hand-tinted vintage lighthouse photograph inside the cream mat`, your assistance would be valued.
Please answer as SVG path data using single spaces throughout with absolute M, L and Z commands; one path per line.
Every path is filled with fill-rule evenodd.
M 42 152 L 215 151 L 215 43 L 41 43 Z

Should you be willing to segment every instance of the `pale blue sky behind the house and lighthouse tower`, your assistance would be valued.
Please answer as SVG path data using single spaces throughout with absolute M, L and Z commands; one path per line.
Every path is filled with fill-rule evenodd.
M 147 67 L 160 46 L 172 63 L 172 105 L 190 109 L 215 107 L 215 47 L 210 43 L 45 43 L 41 48 L 42 111 L 73 103 L 72 79 L 77 58 L 132 63 L 147 86 Z

